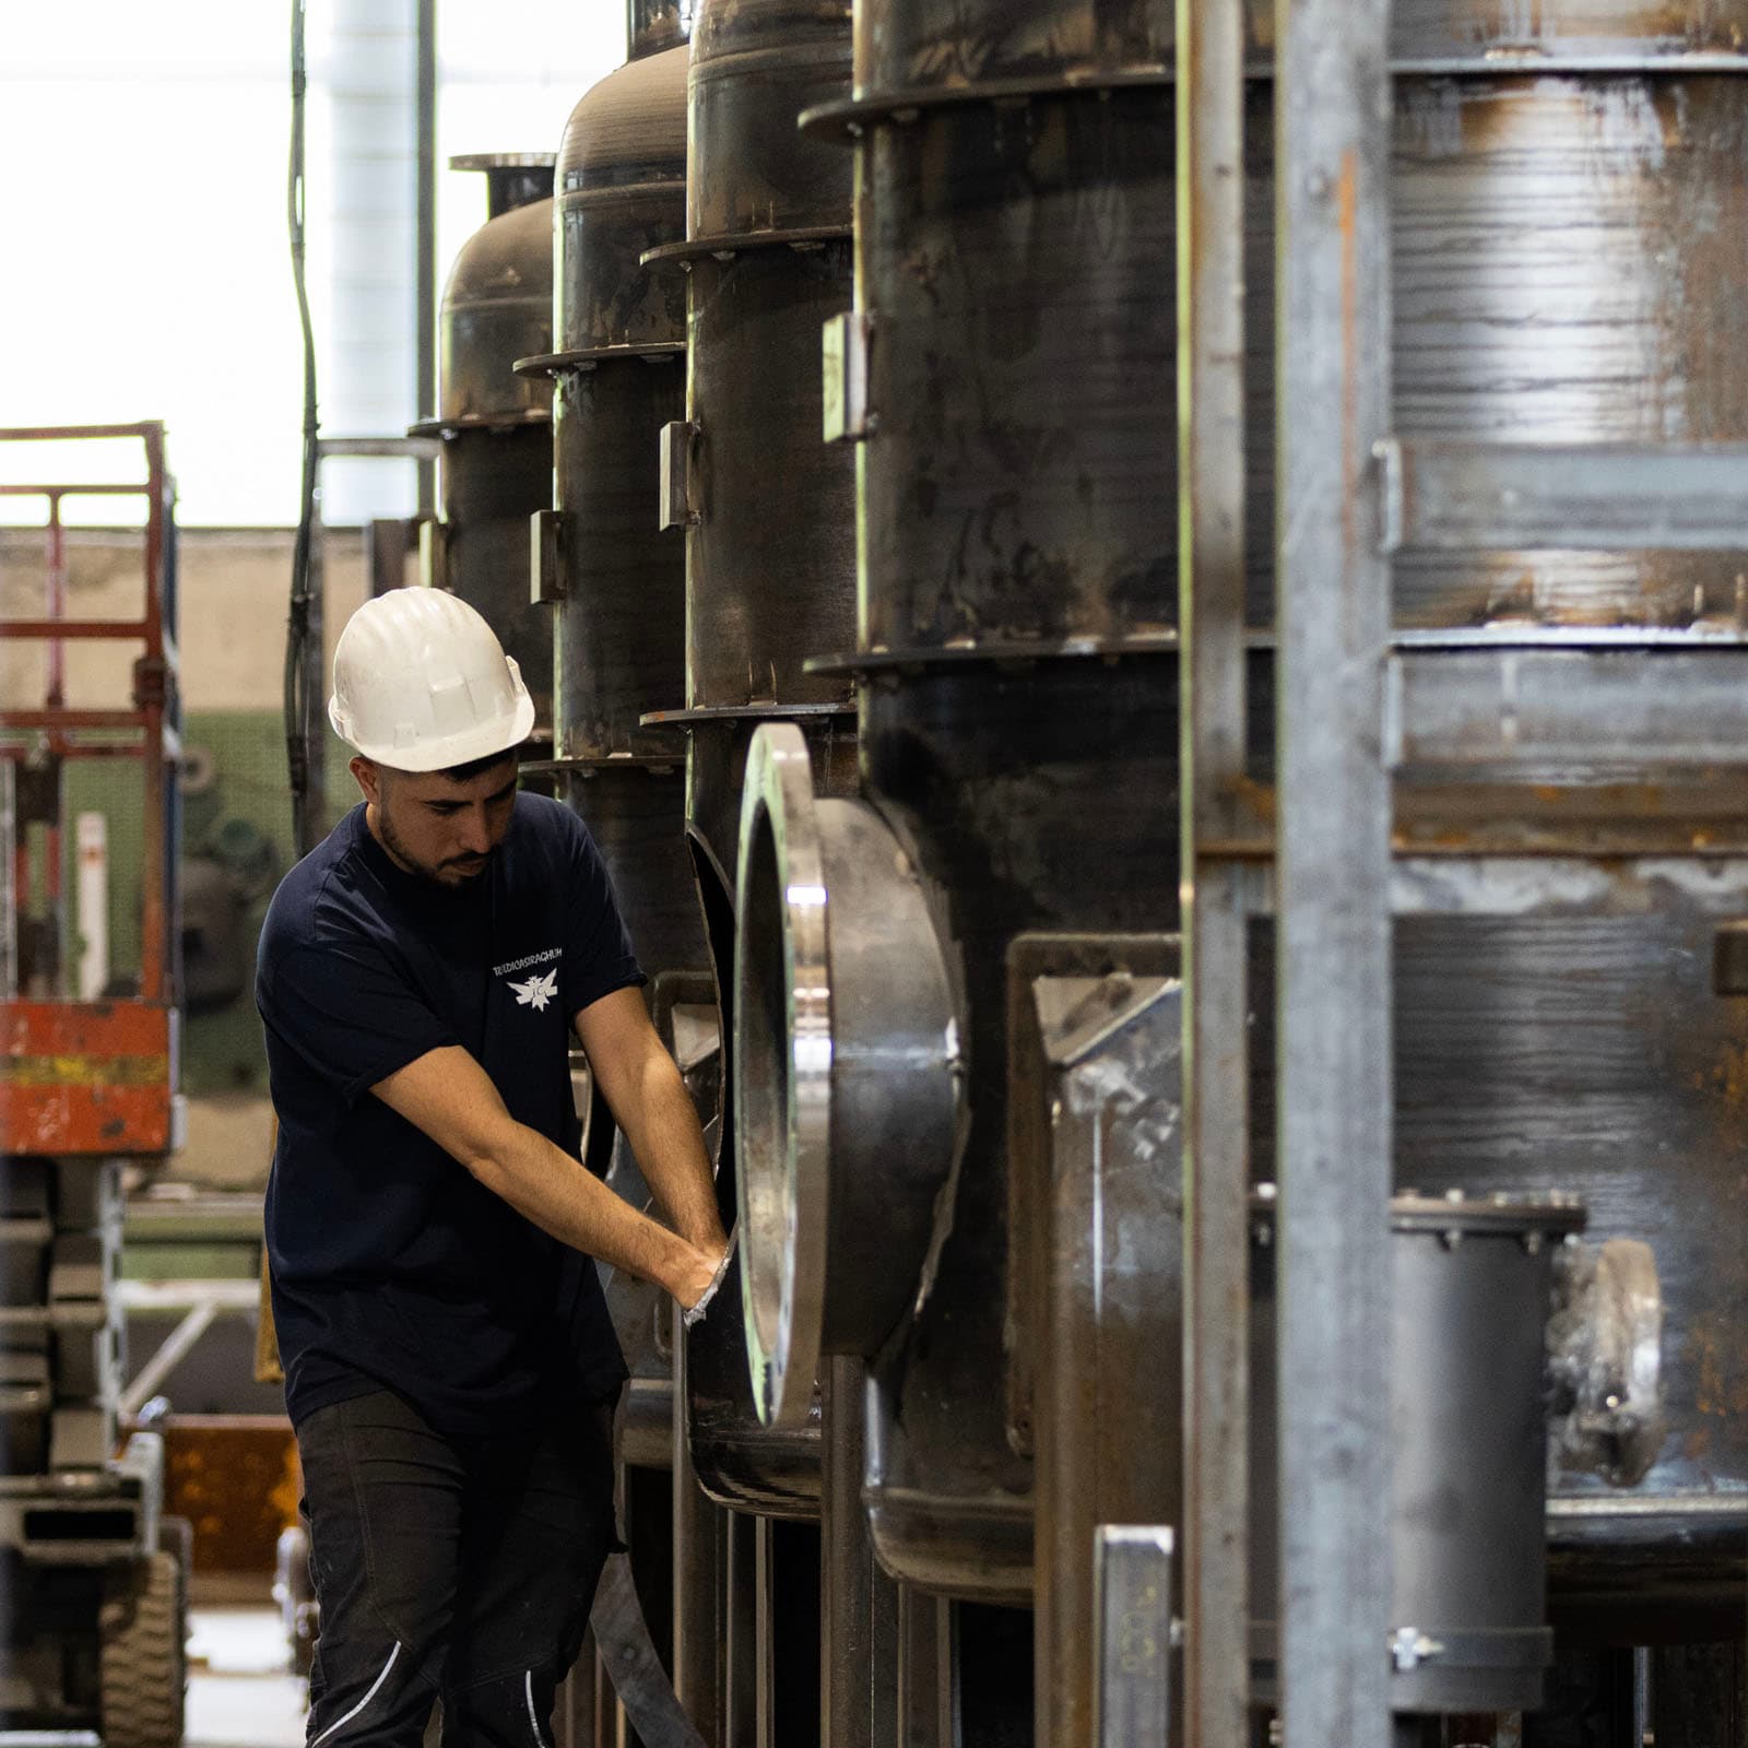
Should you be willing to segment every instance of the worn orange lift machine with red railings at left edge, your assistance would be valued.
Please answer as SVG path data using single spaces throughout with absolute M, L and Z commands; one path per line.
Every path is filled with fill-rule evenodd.
M 135 1433 L 117 1456 L 114 1292 L 122 1168 L 178 1145 L 175 486 L 161 425 L 0 430 L 5 442 L 115 439 L 142 446 L 142 484 L 0 486 L 47 503 L 44 608 L 0 622 L 0 636 L 47 650 L 44 704 L 0 710 L 0 1729 L 175 1748 L 187 1524 L 161 1517 L 156 1435 Z M 68 615 L 61 510 L 86 495 L 145 500 L 138 619 Z M 75 638 L 138 645 L 126 708 L 68 704 Z M 140 974 L 96 989 L 75 982 L 63 904 L 73 759 L 131 759 L 142 778 Z

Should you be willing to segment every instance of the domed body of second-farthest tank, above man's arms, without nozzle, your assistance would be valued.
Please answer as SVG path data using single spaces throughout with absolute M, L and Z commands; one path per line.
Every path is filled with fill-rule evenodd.
M 683 573 L 656 521 L 656 434 L 683 392 L 685 308 L 643 250 L 685 224 L 683 47 L 631 61 L 572 112 L 554 227 L 556 753 L 650 970 L 704 961 L 683 764 L 638 724 L 682 671 Z

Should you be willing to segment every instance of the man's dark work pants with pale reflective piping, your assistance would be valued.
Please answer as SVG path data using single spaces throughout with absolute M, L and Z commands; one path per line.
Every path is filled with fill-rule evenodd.
M 456 1440 L 400 1397 L 297 1428 L 322 1633 L 308 1743 L 551 1748 L 552 1694 L 614 1545 L 612 1404 L 538 1435 Z

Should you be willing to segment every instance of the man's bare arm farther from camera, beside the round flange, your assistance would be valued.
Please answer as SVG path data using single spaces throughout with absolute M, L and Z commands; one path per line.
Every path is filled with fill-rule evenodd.
M 636 989 L 615 989 L 582 1009 L 572 1024 L 589 1054 L 614 1119 L 626 1131 L 643 1178 L 675 1231 L 720 1257 L 727 1248 L 717 1185 L 697 1127 L 692 1096 L 650 1024 Z

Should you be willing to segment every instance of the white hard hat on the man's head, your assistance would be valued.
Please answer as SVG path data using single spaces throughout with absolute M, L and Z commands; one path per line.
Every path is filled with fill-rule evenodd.
M 528 739 L 535 701 L 467 601 L 442 589 L 390 589 L 339 635 L 329 722 L 378 764 L 446 771 Z

